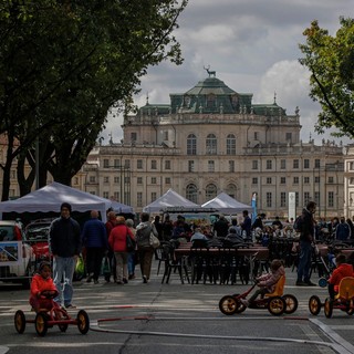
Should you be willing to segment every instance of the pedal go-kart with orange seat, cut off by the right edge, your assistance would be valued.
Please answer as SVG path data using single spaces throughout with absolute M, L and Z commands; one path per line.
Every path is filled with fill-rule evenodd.
M 350 315 L 354 314 L 354 278 L 346 277 L 341 280 L 339 293 L 334 300 L 326 298 L 322 303 L 317 295 L 310 298 L 309 310 L 313 315 L 317 315 L 322 306 L 327 319 L 332 317 L 334 309 L 340 309 Z

